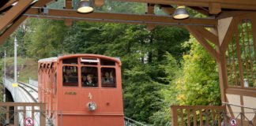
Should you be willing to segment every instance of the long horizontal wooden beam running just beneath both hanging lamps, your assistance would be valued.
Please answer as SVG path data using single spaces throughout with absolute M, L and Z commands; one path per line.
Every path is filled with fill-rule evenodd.
M 29 17 L 41 17 L 64 20 L 87 20 L 94 22 L 130 23 L 130 24 L 156 24 L 156 25 L 202 25 L 214 27 L 217 21 L 214 19 L 189 18 L 186 20 L 175 20 L 168 16 L 137 15 L 125 13 L 77 13 L 70 9 L 48 9 L 47 14 L 39 13 L 38 8 L 29 9 L 25 15 Z

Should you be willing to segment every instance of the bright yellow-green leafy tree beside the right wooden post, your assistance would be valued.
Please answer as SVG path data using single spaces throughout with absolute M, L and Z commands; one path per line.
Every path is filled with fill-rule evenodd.
M 177 96 L 181 105 L 219 106 L 220 87 L 216 61 L 192 38 L 186 43 L 190 54 L 183 56 L 183 76 L 176 81 Z

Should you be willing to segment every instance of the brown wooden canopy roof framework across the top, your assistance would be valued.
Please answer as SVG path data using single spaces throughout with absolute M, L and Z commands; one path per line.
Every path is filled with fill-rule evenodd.
M 217 20 L 256 10 L 254 0 L 113 0 L 121 2 L 148 3 L 144 15 L 127 13 L 77 13 L 72 9 L 72 0 L 66 0 L 65 9 L 44 8 L 54 0 L 1 0 L 0 1 L 0 43 L 2 43 L 27 17 L 50 18 L 65 20 L 87 20 L 112 23 L 130 23 L 154 25 L 198 25 L 214 28 Z M 94 0 L 95 6 L 104 6 L 104 0 Z M 153 6 L 160 6 L 169 16 L 157 16 Z M 175 8 L 183 5 L 204 14 L 205 18 L 190 17 L 186 20 L 175 20 L 171 17 Z

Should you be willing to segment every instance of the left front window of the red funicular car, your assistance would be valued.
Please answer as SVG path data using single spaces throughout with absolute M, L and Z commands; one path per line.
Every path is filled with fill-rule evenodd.
M 63 66 L 62 77 L 64 87 L 78 87 L 77 66 Z

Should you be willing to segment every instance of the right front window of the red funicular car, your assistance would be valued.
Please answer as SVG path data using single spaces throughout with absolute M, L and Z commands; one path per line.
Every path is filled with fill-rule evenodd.
M 115 76 L 114 68 L 101 69 L 101 86 L 102 87 L 116 87 L 115 79 L 116 79 L 116 76 Z

